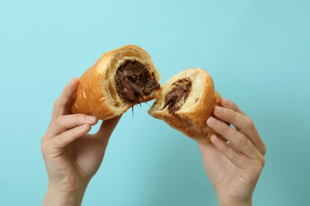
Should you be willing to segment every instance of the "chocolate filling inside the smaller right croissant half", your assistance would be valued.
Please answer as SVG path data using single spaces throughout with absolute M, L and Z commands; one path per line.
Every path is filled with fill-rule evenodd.
M 186 102 L 186 99 L 191 91 L 192 81 L 189 78 L 184 78 L 174 82 L 171 85 L 175 87 L 166 93 L 165 104 L 161 110 L 168 106 L 169 114 L 173 114 L 178 111 L 181 106 Z M 181 102 L 180 102 L 181 101 Z M 178 105 L 177 103 L 180 102 Z

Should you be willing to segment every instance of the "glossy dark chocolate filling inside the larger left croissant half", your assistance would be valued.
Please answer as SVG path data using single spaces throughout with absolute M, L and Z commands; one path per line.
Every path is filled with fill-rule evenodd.
M 137 61 L 125 61 L 117 69 L 114 80 L 119 97 L 132 106 L 141 104 L 140 99 L 144 102 L 144 96 L 160 88 L 150 68 Z

